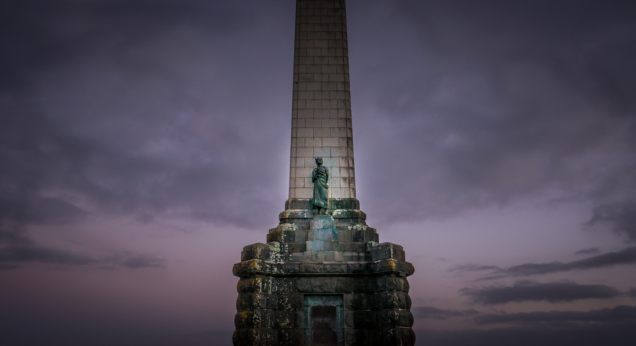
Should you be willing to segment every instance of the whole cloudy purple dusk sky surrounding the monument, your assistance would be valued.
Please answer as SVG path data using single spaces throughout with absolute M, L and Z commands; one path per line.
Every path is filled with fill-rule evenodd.
M 231 343 L 232 265 L 287 197 L 294 8 L 0 5 L 10 342 Z M 636 5 L 349 0 L 347 20 L 357 194 L 415 265 L 418 343 L 627 345 Z

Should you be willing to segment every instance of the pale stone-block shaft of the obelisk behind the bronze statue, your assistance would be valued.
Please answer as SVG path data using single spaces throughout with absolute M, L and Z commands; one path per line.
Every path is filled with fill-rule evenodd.
M 315 157 L 331 173 L 329 197 L 356 198 L 347 19 L 341 1 L 298 1 L 289 198 L 312 198 Z

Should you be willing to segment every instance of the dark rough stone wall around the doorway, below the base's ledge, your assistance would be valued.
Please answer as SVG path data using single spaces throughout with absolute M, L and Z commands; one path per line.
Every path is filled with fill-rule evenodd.
M 305 345 L 307 294 L 344 300 L 344 346 L 413 345 L 408 281 L 403 277 L 251 276 L 237 285 L 234 345 Z

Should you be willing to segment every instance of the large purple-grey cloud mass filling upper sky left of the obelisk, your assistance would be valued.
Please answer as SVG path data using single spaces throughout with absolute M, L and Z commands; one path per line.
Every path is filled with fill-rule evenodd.
M 286 97 L 278 88 L 291 69 L 289 78 L 256 72 L 291 66 L 293 8 L 284 45 L 245 36 L 262 6 L 251 5 L 4 4 L 0 222 L 132 214 L 254 226 L 277 214 L 287 163 L 271 150 L 288 150 L 289 119 L 268 116 L 282 114 L 272 99 L 291 100 L 291 82 Z M 279 45 L 287 59 L 261 56 Z M 263 218 L 245 217 L 253 205 L 266 205 L 249 213 Z

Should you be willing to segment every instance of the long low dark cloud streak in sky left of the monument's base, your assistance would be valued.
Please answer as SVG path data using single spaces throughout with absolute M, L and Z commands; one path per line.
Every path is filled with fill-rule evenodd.
M 165 259 L 149 254 L 122 253 L 96 257 L 91 254 L 55 249 L 36 244 L 20 230 L 0 228 L 0 270 L 24 268 L 29 263 L 69 266 L 96 266 L 117 268 L 120 266 L 138 268 L 162 268 Z

